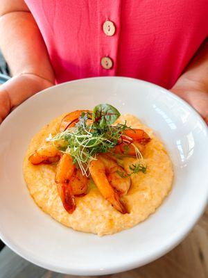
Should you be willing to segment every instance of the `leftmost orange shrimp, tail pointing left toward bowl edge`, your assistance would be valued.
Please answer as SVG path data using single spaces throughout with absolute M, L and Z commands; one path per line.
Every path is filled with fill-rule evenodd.
M 53 145 L 46 145 L 37 149 L 28 159 L 32 164 L 50 164 L 59 161 L 60 152 Z

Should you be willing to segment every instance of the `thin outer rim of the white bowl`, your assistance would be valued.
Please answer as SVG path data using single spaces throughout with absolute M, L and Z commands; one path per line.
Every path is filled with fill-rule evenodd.
M 198 120 L 200 121 L 200 124 L 202 124 L 203 128 L 206 131 L 207 143 L 208 143 L 207 124 L 202 119 L 202 117 L 200 117 L 198 112 L 193 107 L 191 107 L 186 101 L 184 101 L 180 97 L 177 97 L 177 95 L 174 95 L 173 92 L 170 92 L 170 91 L 166 90 L 165 88 L 162 88 L 159 85 L 155 85 L 153 83 L 143 81 L 143 80 L 140 80 L 140 79 L 133 79 L 133 78 L 124 77 L 124 76 L 90 77 L 90 78 L 87 78 L 87 79 L 78 79 L 78 80 L 73 80 L 73 81 L 67 81 L 67 82 L 60 83 L 58 85 L 54 85 L 52 87 L 46 88 L 46 89 L 42 90 L 41 92 L 38 92 L 37 94 L 33 95 L 32 97 L 26 99 L 26 101 L 24 101 L 22 104 L 17 106 L 17 108 L 15 108 L 8 115 L 8 117 L 6 117 L 6 119 L 3 120 L 3 122 L 1 123 L 0 133 L 1 133 L 1 129 L 3 128 L 3 126 L 6 125 L 7 122 L 10 121 L 11 117 L 15 116 L 17 111 L 21 111 L 21 109 L 24 108 L 24 106 L 26 106 L 28 104 L 28 102 L 33 101 L 33 99 L 39 97 L 40 95 L 45 94 L 46 92 L 50 93 L 51 89 L 53 90 L 54 87 L 61 87 L 61 86 L 66 85 L 68 83 L 83 83 L 83 82 L 89 81 L 89 80 L 98 81 L 99 79 L 103 79 L 103 80 L 104 79 L 117 79 L 117 80 L 123 79 L 124 81 L 126 80 L 126 81 L 134 81 L 134 82 L 137 82 L 137 83 L 144 83 L 144 84 L 146 84 L 150 87 L 158 88 L 162 94 L 170 95 L 173 99 L 176 99 L 177 101 L 179 101 L 179 103 L 182 103 L 184 106 L 187 106 L 187 108 L 189 108 L 189 110 L 191 110 L 193 115 L 195 115 L 198 118 Z M 28 252 L 26 252 L 26 250 L 23 250 L 23 249 L 21 249 L 21 247 L 18 247 L 17 245 L 15 245 L 15 243 L 12 242 L 12 239 L 9 238 L 9 236 L 4 235 L 1 230 L 0 230 L 0 238 L 1 238 L 1 240 L 3 240 L 4 243 L 6 243 L 6 245 L 12 251 L 14 251 L 15 253 L 17 253 L 19 256 L 23 257 L 27 261 L 30 261 L 31 263 L 35 263 L 36 265 L 38 265 L 42 268 L 47 268 L 47 269 L 53 270 L 55 272 L 60 272 L 60 273 L 69 274 L 69 275 L 107 275 L 107 274 L 112 274 L 112 273 L 116 273 L 116 272 L 123 272 L 123 271 L 126 271 L 126 270 L 130 270 L 132 268 L 138 268 L 141 265 L 146 265 L 147 263 L 150 263 L 151 261 L 155 261 L 156 259 L 159 259 L 159 257 L 161 257 L 164 254 L 166 254 L 167 252 L 171 251 L 175 246 L 177 246 L 179 243 L 181 243 L 182 240 L 187 236 L 187 234 L 189 234 L 191 229 L 193 229 L 193 226 L 196 224 L 196 222 L 198 221 L 198 219 L 200 218 L 202 213 L 205 211 L 205 208 L 207 206 L 207 202 L 208 202 L 208 181 L 207 181 L 207 195 L 205 195 L 204 199 L 202 200 L 202 204 L 200 206 L 200 209 L 198 209 L 198 211 L 195 213 L 193 218 L 186 224 L 186 226 L 184 226 L 183 229 L 180 230 L 180 232 L 175 234 L 175 236 L 173 236 L 173 238 L 170 239 L 168 245 L 160 247 L 159 250 L 157 249 L 157 252 L 155 252 L 154 254 L 150 254 L 145 259 L 142 259 L 142 260 L 141 259 L 140 260 L 138 260 L 138 259 L 133 260 L 132 259 L 131 262 L 123 263 L 123 265 L 113 265 L 113 266 L 109 266 L 108 268 L 104 268 L 104 269 L 100 269 L 96 266 L 94 268 L 85 267 L 85 268 L 79 268 L 78 269 L 78 268 L 73 268 L 70 265 L 69 265 L 68 268 L 66 268 L 66 267 L 63 268 L 63 267 L 60 267 L 58 265 L 52 265 L 51 263 L 43 263 L 42 260 L 34 258 L 33 255 L 28 254 Z

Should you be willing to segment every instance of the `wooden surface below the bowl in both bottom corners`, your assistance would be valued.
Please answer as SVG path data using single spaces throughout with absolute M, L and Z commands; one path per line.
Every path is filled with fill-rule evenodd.
M 28 263 L 8 247 L 0 253 L 0 278 L 72 278 Z M 162 258 L 127 272 L 106 278 L 207 278 L 208 208 L 193 231 L 174 250 Z

